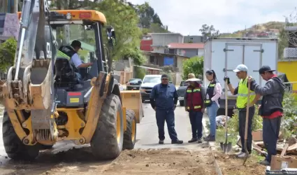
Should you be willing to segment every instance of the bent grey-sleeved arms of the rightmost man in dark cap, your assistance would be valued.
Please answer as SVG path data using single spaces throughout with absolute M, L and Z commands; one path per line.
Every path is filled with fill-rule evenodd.
M 278 86 L 275 80 L 268 80 L 264 87 L 258 85 L 255 80 L 251 82 L 251 90 L 261 96 L 275 93 Z

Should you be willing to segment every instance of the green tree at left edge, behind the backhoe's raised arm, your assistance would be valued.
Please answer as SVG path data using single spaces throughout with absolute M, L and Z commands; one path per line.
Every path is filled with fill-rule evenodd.
M 8 38 L 0 45 L 0 71 L 7 71 L 9 66 L 13 66 L 17 41 L 15 38 Z

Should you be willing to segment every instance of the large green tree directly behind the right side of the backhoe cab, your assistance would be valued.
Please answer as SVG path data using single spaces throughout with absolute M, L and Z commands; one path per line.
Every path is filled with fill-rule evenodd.
M 142 64 L 143 59 L 138 49 L 141 31 L 138 28 L 139 18 L 136 11 L 128 4 L 117 0 L 103 0 L 94 7 L 94 10 L 106 15 L 107 26 L 115 27 L 117 45 L 111 52 L 113 59 L 131 57 L 135 64 Z

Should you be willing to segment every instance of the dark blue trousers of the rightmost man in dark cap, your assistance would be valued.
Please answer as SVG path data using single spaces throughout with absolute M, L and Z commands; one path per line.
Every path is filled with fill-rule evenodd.
M 276 145 L 280 134 L 281 117 L 263 118 L 263 142 L 268 152 L 266 160 L 271 162 L 271 156 L 277 154 Z

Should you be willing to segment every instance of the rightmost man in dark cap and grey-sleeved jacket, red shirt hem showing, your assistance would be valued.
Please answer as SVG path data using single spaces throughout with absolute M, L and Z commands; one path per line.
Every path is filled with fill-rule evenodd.
M 282 118 L 282 99 L 284 97 L 285 85 L 278 78 L 270 66 L 262 66 L 259 73 L 266 80 L 264 87 L 258 85 L 252 77 L 249 77 L 251 90 L 263 96 L 259 115 L 263 117 L 263 142 L 268 155 L 265 160 L 259 162 L 261 165 L 270 165 L 271 156 L 277 154 L 277 139 L 280 134 L 280 122 Z

